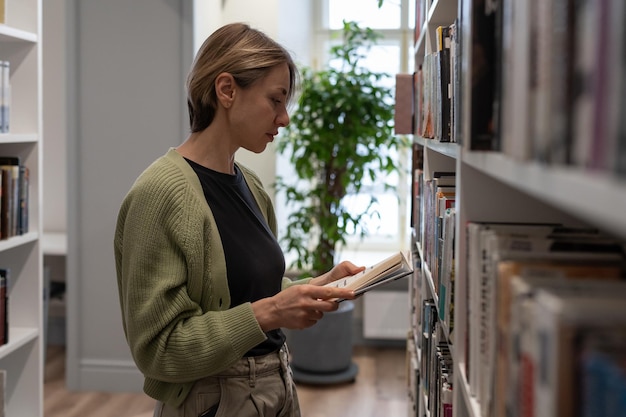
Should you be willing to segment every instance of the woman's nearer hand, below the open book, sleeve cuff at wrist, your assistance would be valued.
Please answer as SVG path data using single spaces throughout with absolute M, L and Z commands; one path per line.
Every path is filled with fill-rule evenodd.
M 357 271 L 359 269 L 356 268 Z M 352 270 L 352 267 L 347 269 Z M 338 278 L 341 277 L 337 276 Z M 305 329 L 317 323 L 324 313 L 337 310 L 337 298 L 352 300 L 354 291 L 311 284 L 293 285 L 273 297 L 255 301 L 252 303 L 252 310 L 264 332 L 280 327 Z

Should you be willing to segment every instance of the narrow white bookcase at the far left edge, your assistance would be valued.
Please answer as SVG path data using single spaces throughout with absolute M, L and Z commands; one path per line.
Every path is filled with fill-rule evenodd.
M 3 415 L 41 416 L 41 1 L 3 0 L 0 5 L 4 11 L 0 60 L 7 61 L 10 68 L 10 95 L 3 95 L 2 102 L 9 110 L 8 130 L 0 133 L 0 156 L 18 157 L 28 170 L 28 182 L 19 186 L 28 191 L 20 199 L 23 229 L 0 240 L 0 268 L 8 271 L 8 342 L 0 346 L 0 370 L 4 373 L 0 395 Z

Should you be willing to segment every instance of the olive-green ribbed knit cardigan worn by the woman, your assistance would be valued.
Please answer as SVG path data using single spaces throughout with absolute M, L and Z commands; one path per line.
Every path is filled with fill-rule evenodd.
M 237 166 L 276 234 L 261 181 Z M 228 368 L 266 339 L 251 303 L 230 307 L 215 219 L 196 173 L 174 149 L 126 195 L 114 251 L 124 332 L 149 396 L 178 407 L 195 381 Z M 294 283 L 283 278 L 283 289 Z

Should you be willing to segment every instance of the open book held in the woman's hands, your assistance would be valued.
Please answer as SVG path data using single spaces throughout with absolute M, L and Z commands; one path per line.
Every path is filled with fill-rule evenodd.
M 356 295 L 360 295 L 372 288 L 406 277 L 411 273 L 413 273 L 413 268 L 411 268 L 407 257 L 402 252 L 397 252 L 356 275 L 338 279 L 325 286 L 348 288 L 354 290 Z

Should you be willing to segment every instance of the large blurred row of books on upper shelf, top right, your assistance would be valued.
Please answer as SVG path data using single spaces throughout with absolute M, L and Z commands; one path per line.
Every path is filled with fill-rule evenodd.
M 625 173 L 626 3 L 492 3 L 472 6 L 470 148 Z

